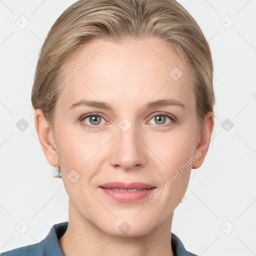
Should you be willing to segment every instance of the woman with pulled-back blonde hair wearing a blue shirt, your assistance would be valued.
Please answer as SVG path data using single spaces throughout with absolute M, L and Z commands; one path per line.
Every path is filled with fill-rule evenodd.
M 175 0 L 79 0 L 51 27 L 31 101 L 68 222 L 8 255 L 195 255 L 171 233 L 214 124 L 213 65 Z

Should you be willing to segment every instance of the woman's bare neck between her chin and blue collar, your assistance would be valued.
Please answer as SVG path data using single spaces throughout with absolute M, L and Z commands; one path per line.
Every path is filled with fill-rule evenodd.
M 58 239 L 65 256 L 174 256 L 171 248 L 173 212 L 156 228 L 141 236 L 118 237 L 109 235 L 80 214 L 74 212 L 69 200 L 68 226 Z

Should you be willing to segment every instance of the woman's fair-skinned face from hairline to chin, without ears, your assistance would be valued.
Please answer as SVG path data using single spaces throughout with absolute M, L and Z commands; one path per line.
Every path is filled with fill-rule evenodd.
M 172 215 L 201 154 L 186 66 L 155 38 L 97 39 L 62 74 L 54 143 L 69 217 L 116 236 L 150 232 Z M 101 187 L 115 181 L 153 188 Z

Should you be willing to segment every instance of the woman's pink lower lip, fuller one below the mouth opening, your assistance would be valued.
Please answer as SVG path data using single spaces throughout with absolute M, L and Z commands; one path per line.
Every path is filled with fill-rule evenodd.
M 155 189 L 155 187 L 146 189 L 146 190 L 139 190 L 139 191 L 118 191 L 118 190 L 114 190 L 111 188 L 104 188 L 104 187 L 100 187 L 100 189 L 106 195 L 110 196 L 112 199 L 118 202 L 134 202 L 151 194 L 152 191 Z

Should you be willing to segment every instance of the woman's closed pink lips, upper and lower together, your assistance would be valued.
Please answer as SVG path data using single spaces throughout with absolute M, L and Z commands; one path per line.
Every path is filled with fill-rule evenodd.
M 148 196 L 152 191 L 156 188 L 153 185 L 141 183 L 141 182 L 109 182 L 99 186 L 99 188 L 112 199 L 119 202 L 133 202 L 139 199 L 142 199 Z M 145 190 L 137 190 L 137 191 L 118 191 L 114 190 L 114 188 L 121 189 L 134 189 L 134 188 L 142 188 Z

